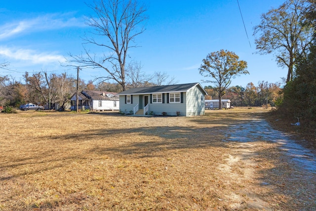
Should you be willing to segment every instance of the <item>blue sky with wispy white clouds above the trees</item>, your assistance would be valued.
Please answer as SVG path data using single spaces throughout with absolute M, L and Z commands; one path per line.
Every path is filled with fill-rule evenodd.
M 68 54 L 79 55 L 82 37 L 91 29 L 84 24 L 85 15 L 93 11 L 90 0 L 13 0 L 0 4 L 0 63 L 10 63 L 10 75 L 24 82 L 23 75 L 46 70 L 76 76 L 72 67 L 61 66 Z M 178 84 L 209 80 L 199 75 L 202 59 L 220 49 L 234 51 L 248 63 L 249 75 L 233 79 L 231 85 L 245 87 L 249 82 L 281 82 L 287 70 L 277 67 L 272 55 L 255 54 L 253 27 L 260 15 L 284 0 L 147 0 L 146 31 L 136 37 L 140 47 L 130 48 L 131 59 L 141 62 L 142 71 L 151 75 L 166 72 Z M 89 45 L 91 52 L 106 50 Z M 87 82 L 106 76 L 97 69 L 83 69 L 80 78 Z M 204 84 L 202 86 L 213 85 Z

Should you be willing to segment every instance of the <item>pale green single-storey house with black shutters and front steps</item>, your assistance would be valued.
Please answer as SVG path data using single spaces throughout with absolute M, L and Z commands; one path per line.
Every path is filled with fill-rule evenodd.
M 118 93 L 119 110 L 139 115 L 204 115 L 206 94 L 199 83 L 130 88 Z

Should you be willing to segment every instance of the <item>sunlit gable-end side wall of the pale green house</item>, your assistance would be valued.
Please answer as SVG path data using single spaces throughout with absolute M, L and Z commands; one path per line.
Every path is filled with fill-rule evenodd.
M 187 113 L 186 116 L 198 116 L 205 114 L 205 98 L 197 86 L 192 87 L 187 92 L 186 97 Z

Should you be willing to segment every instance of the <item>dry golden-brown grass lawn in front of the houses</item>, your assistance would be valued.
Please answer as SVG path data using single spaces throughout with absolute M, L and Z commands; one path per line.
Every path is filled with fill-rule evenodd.
M 300 201 L 286 187 L 293 171 L 276 144 L 223 141 L 230 125 L 266 111 L 0 114 L 0 210 L 311 208 L 315 192 Z

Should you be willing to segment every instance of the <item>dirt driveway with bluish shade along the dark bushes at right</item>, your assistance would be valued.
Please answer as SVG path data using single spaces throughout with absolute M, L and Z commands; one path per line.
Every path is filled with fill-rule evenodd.
M 260 117 L 231 126 L 225 136 L 223 141 L 234 148 L 222 167 L 228 180 L 256 178 L 258 182 L 245 187 L 247 200 L 232 208 L 242 209 L 244 204 L 255 210 L 316 210 L 316 156 L 311 150 Z M 244 171 L 243 177 L 232 170 L 236 166 Z

